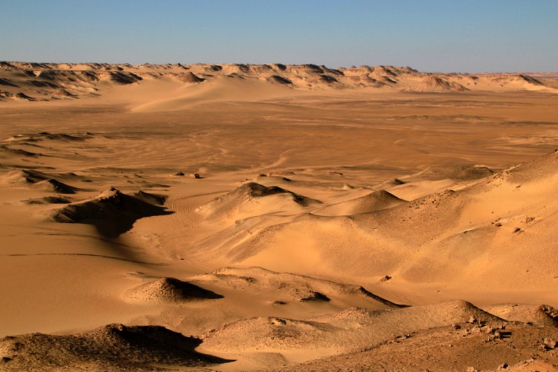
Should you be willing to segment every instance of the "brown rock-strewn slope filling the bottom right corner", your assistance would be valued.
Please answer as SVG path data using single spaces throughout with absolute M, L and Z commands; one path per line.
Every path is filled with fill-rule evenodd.
M 455 329 L 456 327 L 458 329 Z M 529 325 L 454 325 L 414 332 L 365 351 L 326 357 L 274 371 L 354 370 L 416 371 L 554 371 L 554 352 L 544 352 L 544 341 L 556 330 L 541 332 Z M 552 336 L 550 336 L 552 335 Z M 474 355 L 474 357 L 472 357 Z

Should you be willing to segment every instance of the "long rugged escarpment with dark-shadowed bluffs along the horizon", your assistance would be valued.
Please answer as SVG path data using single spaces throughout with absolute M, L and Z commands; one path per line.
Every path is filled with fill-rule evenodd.
M 171 78 L 183 84 L 232 78 L 280 84 L 301 90 L 378 88 L 416 93 L 462 93 L 467 91 L 547 91 L 557 93 L 553 79 L 525 74 L 442 74 L 419 72 L 392 65 L 328 68 L 324 65 L 268 64 L 166 64 L 26 63 L 0 62 L 0 101 L 60 100 L 98 97 L 107 86 L 134 85 Z M 150 84 L 150 83 L 148 83 Z M 156 98 L 156 97 L 155 97 Z

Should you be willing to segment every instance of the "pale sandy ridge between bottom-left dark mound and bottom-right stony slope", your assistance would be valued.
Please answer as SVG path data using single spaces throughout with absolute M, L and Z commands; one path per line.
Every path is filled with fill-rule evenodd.
M 497 322 L 499 318 L 459 301 L 389 311 L 351 308 L 308 320 L 276 317 L 241 320 L 210 332 L 202 339 L 206 352 L 266 350 L 294 354 L 299 362 L 304 362 L 305 352 L 312 355 L 309 350 L 319 350 L 322 356 L 350 352 L 375 347 L 418 330 L 467 321 L 487 323 Z

